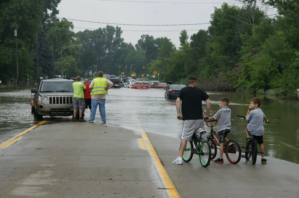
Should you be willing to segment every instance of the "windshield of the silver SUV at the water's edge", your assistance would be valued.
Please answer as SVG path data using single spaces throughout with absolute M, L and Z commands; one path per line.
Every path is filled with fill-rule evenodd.
M 43 82 L 40 92 L 74 92 L 73 82 Z

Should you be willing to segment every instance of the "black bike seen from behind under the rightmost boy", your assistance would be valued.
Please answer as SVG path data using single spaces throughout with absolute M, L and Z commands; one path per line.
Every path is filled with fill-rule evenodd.
M 237 115 L 238 117 L 242 117 L 241 119 L 245 120 L 245 116 L 242 115 Z M 247 120 L 249 123 L 249 120 Z M 268 121 L 269 123 L 269 121 Z M 251 138 L 251 143 L 246 143 L 246 146 L 242 146 L 242 148 L 245 149 L 245 155 L 242 155 L 242 158 L 245 158 L 246 160 L 250 160 L 251 158 L 251 163 L 255 164 L 257 161 L 257 154 L 263 154 L 264 152 L 257 151 L 257 140 L 254 138 L 252 134 L 250 134 Z

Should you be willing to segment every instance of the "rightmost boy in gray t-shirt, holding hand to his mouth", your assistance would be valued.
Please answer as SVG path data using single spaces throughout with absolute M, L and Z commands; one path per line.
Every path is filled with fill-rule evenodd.
M 250 122 L 246 125 L 246 134 L 247 134 L 247 142 L 251 142 L 250 134 L 254 136 L 254 139 L 257 140 L 257 143 L 260 145 L 260 151 L 265 152 L 264 148 L 264 126 L 263 120 L 267 123 L 268 120 L 263 113 L 262 109 L 259 108 L 261 104 L 260 98 L 252 98 L 250 100 L 250 105 L 248 107 L 248 111 L 246 114 L 246 120 L 250 120 Z M 265 159 L 264 153 L 262 153 L 262 164 L 266 164 L 267 161 Z

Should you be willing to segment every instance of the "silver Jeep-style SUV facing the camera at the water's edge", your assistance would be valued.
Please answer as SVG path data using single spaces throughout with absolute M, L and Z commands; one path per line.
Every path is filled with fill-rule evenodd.
M 74 81 L 71 79 L 42 79 L 34 93 L 34 117 L 42 120 L 43 115 L 73 115 Z

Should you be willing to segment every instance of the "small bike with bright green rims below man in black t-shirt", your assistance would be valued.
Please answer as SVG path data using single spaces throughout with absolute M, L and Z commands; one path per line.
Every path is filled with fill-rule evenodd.
M 202 141 L 202 134 L 206 131 L 200 129 L 200 138 L 197 139 L 196 135 L 193 134 L 192 140 L 187 141 L 187 146 L 183 154 L 184 162 L 190 162 L 192 160 L 193 154 L 199 156 L 200 164 L 203 167 L 207 167 L 211 160 L 211 146 L 208 141 Z M 195 148 L 193 146 L 195 145 Z

